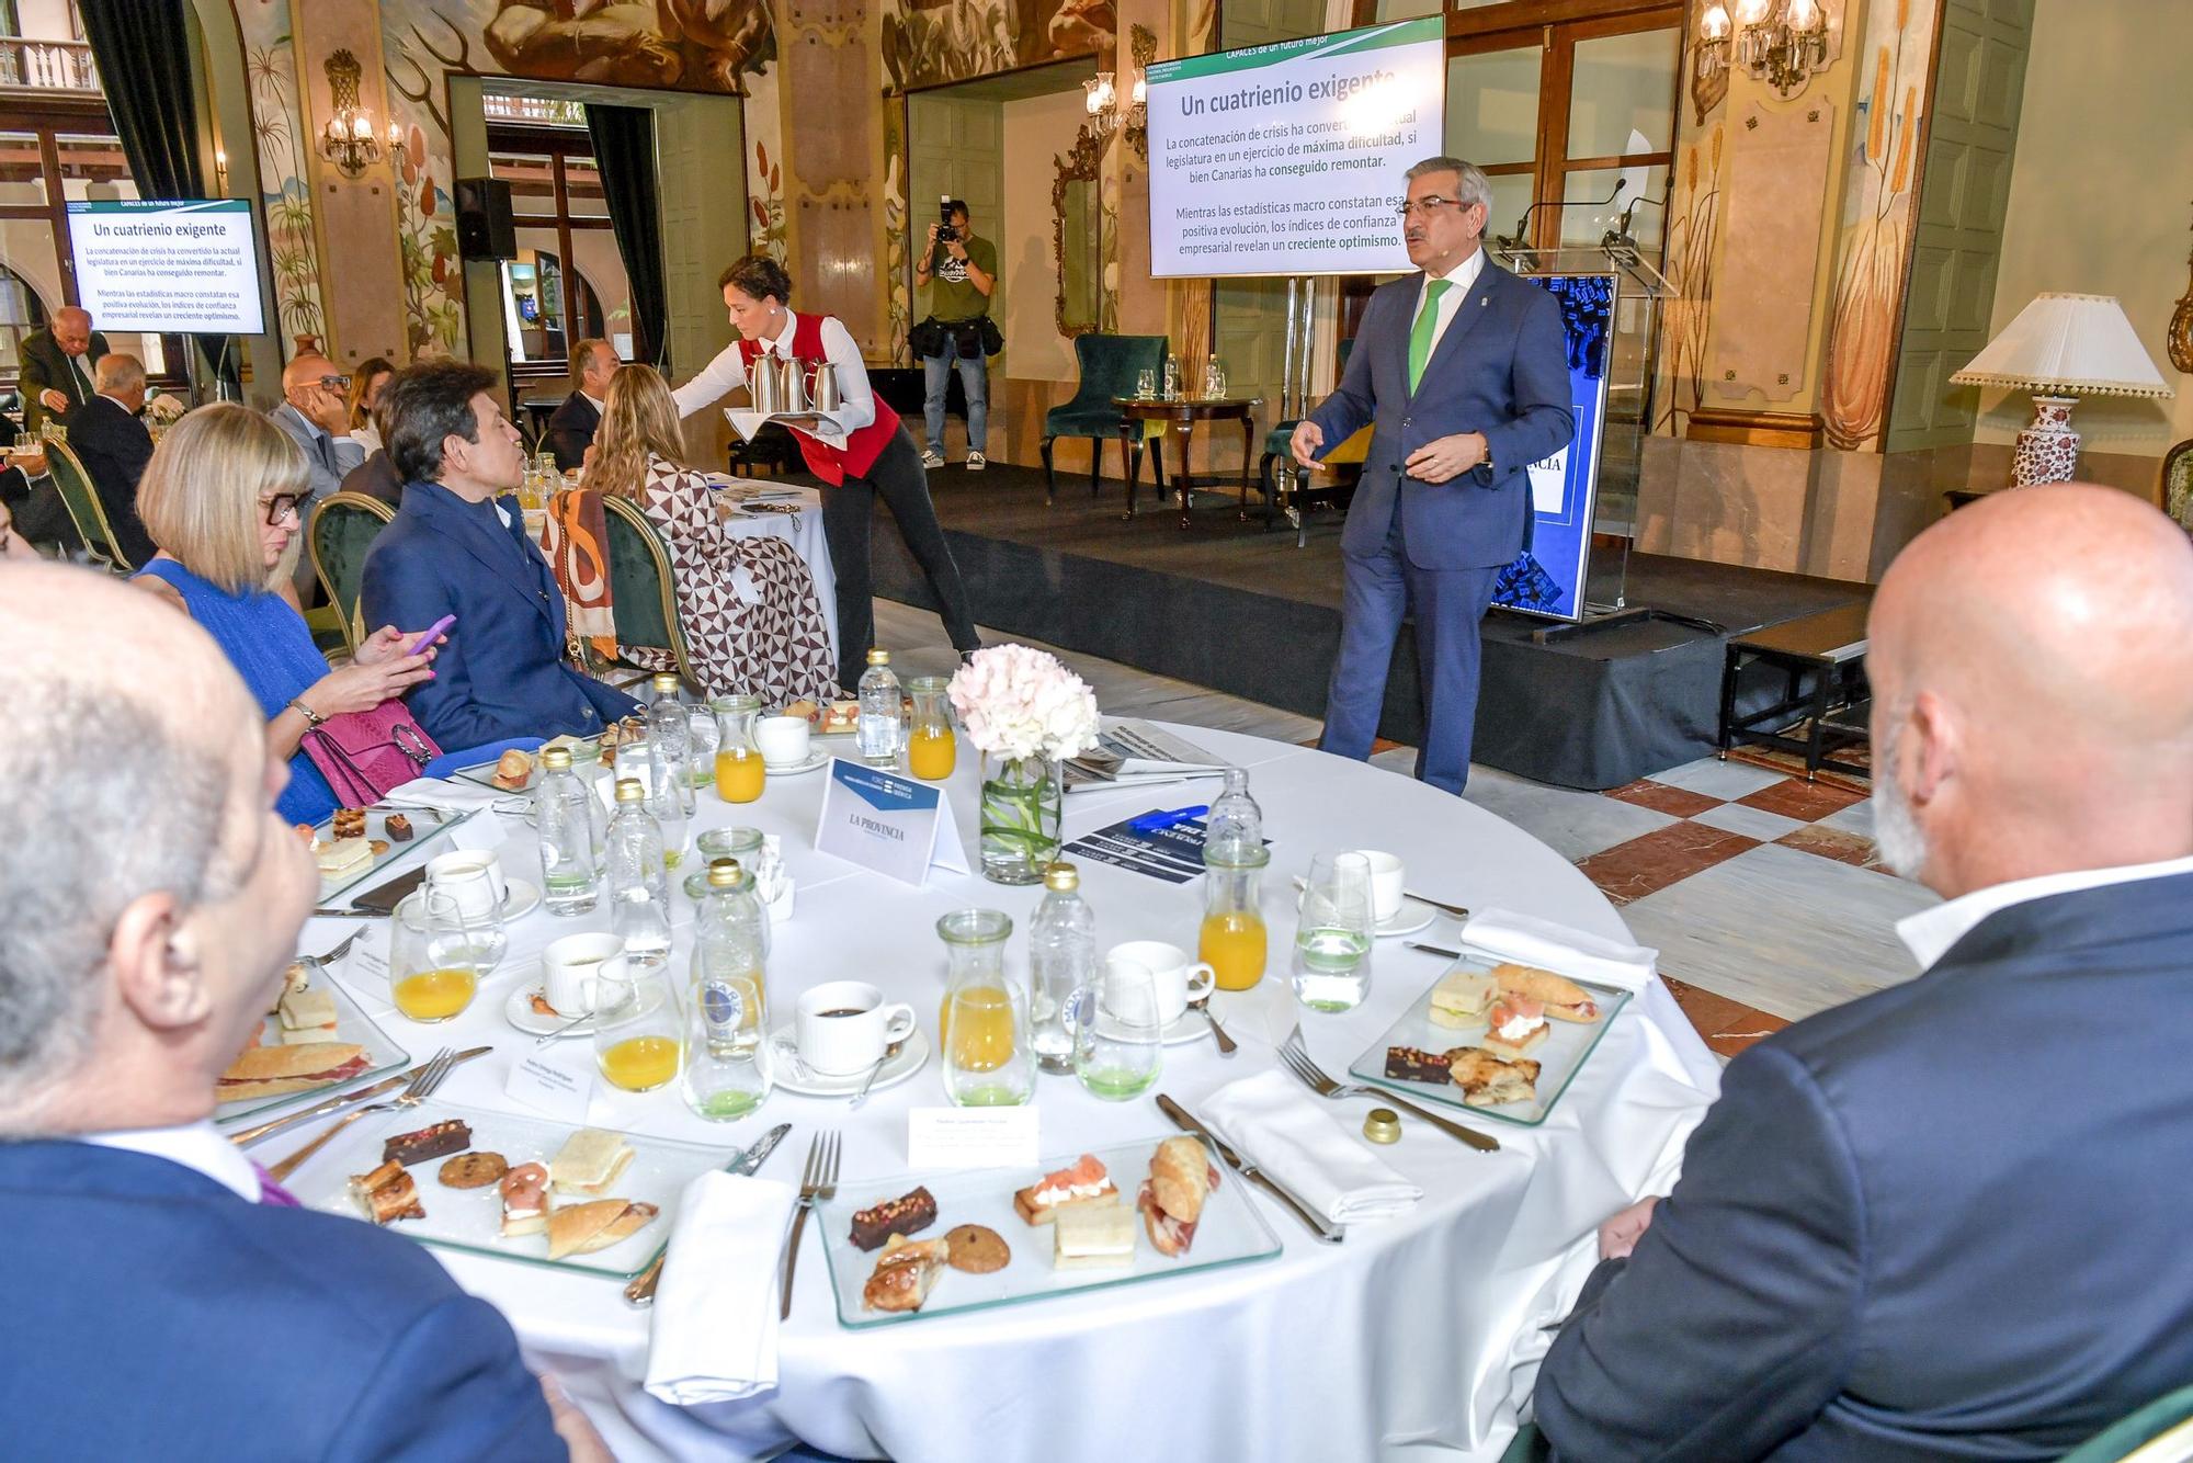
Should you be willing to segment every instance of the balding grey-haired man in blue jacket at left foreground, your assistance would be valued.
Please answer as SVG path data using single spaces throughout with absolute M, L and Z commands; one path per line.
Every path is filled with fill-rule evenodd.
M 428 1250 L 211 1123 L 318 893 L 226 656 L 72 566 L 0 575 L 0 829 L 37 842 L 0 880 L 0 1452 L 605 1459 Z

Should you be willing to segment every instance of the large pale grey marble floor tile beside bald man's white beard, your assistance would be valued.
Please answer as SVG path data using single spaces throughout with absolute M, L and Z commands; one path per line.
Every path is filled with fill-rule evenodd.
M 1936 904 L 1917 884 L 1757 844 L 1623 908 L 1660 972 L 1772 1016 L 1814 1011 L 1919 974 L 1895 921 Z

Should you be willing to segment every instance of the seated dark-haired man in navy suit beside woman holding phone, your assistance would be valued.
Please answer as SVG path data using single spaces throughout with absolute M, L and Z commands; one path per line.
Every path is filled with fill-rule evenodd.
M 456 616 L 434 680 L 408 698 L 425 735 L 452 752 L 509 737 L 590 737 L 638 711 L 564 662 L 564 594 L 518 500 L 504 496 L 524 483 L 526 456 L 493 388 L 480 366 L 412 366 L 377 408 L 406 487 L 366 555 L 364 614 L 399 616 L 390 625 Z

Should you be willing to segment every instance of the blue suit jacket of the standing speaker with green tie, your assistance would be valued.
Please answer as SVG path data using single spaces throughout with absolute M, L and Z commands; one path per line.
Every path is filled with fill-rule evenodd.
M 1340 548 L 1377 553 L 1399 498 L 1410 564 L 1500 568 L 1531 544 L 1524 467 L 1559 452 L 1577 430 L 1561 303 L 1487 259 L 1412 395 L 1408 331 L 1421 290 L 1419 272 L 1371 294 L 1340 386 L 1309 412 L 1327 447 L 1373 426 Z M 1485 432 L 1491 465 L 1447 483 L 1404 480 L 1410 452 L 1456 432 Z

